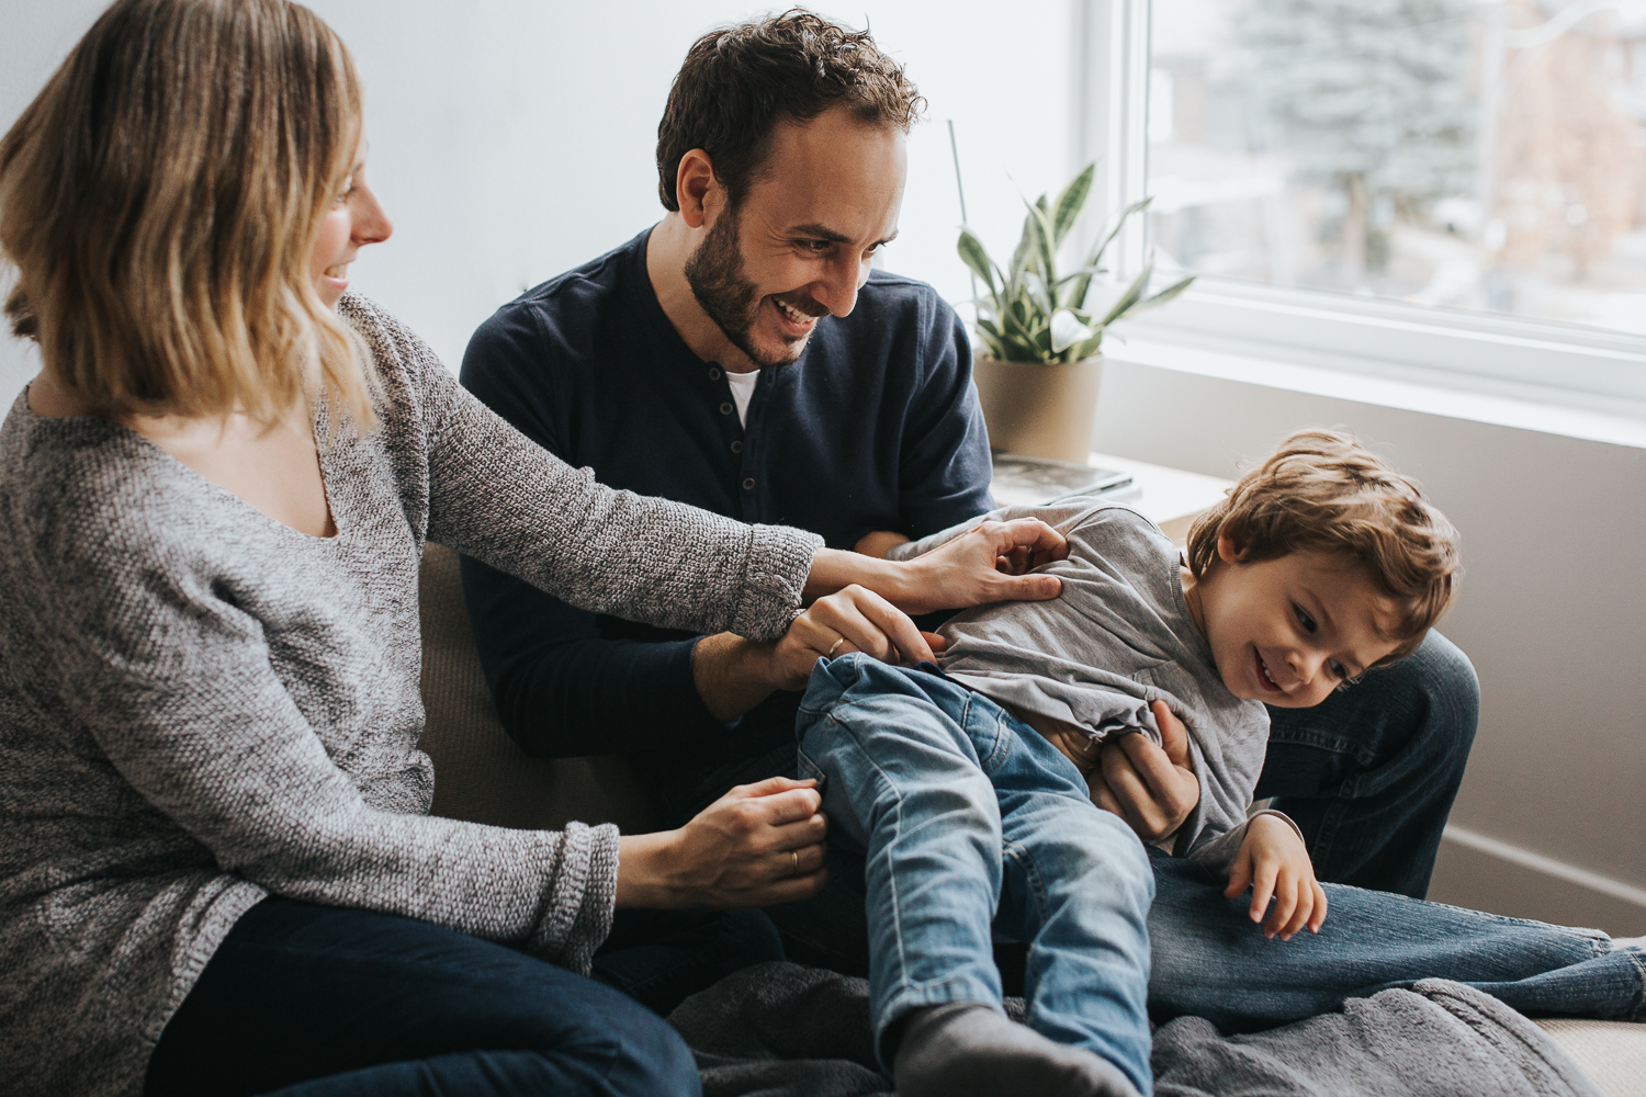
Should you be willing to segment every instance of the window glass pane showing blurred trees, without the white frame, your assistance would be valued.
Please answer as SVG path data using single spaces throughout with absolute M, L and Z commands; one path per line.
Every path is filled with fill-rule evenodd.
M 1646 332 L 1646 0 L 1154 0 L 1162 266 Z

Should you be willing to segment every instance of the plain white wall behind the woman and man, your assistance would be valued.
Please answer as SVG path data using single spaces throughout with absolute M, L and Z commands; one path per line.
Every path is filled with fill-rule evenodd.
M 0 0 L 0 125 L 10 125 L 102 10 L 86 0 Z M 395 237 L 367 248 L 354 285 L 418 331 L 453 368 L 469 332 L 522 289 L 657 220 L 657 122 L 703 31 L 765 8 L 747 0 L 314 0 L 365 84 L 370 178 Z M 1034 197 L 1068 163 L 1068 0 L 856 0 L 818 8 L 907 64 L 930 100 L 910 141 L 902 235 L 886 266 L 969 296 L 955 257 L 960 204 L 1009 252 Z M 838 8 L 838 10 L 836 10 Z M 38 363 L 0 339 L 0 396 Z

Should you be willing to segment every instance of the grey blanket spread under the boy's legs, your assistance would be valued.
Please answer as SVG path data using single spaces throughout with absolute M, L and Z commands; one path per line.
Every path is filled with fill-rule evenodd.
M 1007 1011 L 1022 1020 L 1022 1000 Z M 704 1097 L 890 1097 L 861 979 L 762 964 L 668 1020 Z M 1154 1072 L 1159 1097 L 1600 1097 L 1541 1028 L 1444 979 L 1244 1036 L 1179 1018 L 1154 1035 Z

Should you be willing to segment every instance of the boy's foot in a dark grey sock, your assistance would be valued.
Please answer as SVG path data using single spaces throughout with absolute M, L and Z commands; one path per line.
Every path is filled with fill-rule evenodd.
M 892 1064 L 899 1097 L 1139 1097 L 1109 1061 L 978 1002 L 917 1010 Z

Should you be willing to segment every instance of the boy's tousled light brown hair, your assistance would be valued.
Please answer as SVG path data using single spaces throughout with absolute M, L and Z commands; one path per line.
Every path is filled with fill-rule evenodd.
M 1396 605 L 1384 640 L 1399 646 L 1378 666 L 1402 660 L 1440 620 L 1462 574 L 1458 535 L 1417 482 L 1391 469 L 1348 434 L 1297 431 L 1188 530 L 1188 569 L 1203 576 L 1228 533 L 1241 562 L 1289 553 L 1330 553 L 1363 564 Z

